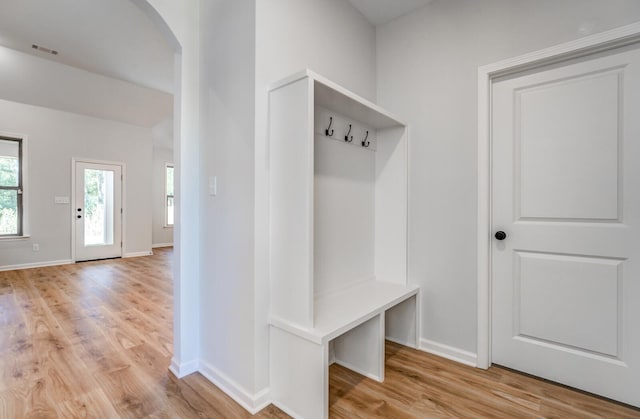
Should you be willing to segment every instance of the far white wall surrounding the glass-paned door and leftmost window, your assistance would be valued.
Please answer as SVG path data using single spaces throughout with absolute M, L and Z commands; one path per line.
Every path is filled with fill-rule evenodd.
M 54 204 L 54 197 L 71 197 L 73 157 L 125 163 L 125 252 L 151 250 L 149 128 L 0 100 L 0 130 L 27 136 L 31 235 L 0 241 L 0 267 L 71 258 L 72 204 Z

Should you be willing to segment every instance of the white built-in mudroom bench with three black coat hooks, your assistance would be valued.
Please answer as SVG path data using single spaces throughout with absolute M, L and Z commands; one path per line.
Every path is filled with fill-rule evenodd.
M 407 280 L 407 125 L 304 71 L 269 93 L 274 404 L 328 417 L 329 365 L 384 380 L 384 341 L 416 346 Z

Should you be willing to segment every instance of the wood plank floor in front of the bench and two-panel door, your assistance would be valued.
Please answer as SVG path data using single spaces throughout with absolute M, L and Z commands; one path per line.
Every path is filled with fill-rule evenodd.
M 330 368 L 332 418 L 640 418 L 640 409 L 506 368 L 467 367 L 392 342 L 385 381 Z

